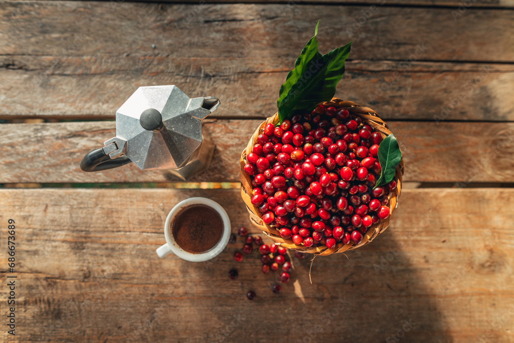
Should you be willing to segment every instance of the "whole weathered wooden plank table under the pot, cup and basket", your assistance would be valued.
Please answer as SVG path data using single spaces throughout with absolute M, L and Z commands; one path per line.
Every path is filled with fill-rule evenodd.
M 242 1 L 0 3 L 0 340 L 514 341 L 514 3 Z M 232 259 L 241 242 L 214 263 L 157 258 L 167 213 L 191 196 L 258 233 L 238 158 L 320 18 L 321 52 L 353 39 L 336 96 L 373 107 L 402 146 L 389 229 L 316 258 L 312 284 L 310 258 L 294 261 L 280 295 L 257 258 Z M 82 172 L 125 99 L 160 84 L 221 99 L 209 170 Z

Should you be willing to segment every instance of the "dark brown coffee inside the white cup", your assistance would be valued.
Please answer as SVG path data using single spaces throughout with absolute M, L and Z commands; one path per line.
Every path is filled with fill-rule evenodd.
M 223 234 L 223 219 L 207 205 L 191 205 L 180 210 L 172 224 L 177 244 L 192 254 L 212 249 Z

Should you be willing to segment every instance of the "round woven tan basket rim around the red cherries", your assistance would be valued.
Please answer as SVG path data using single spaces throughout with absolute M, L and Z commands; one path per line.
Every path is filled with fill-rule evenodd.
M 359 116 L 362 118 L 363 122 L 366 122 L 368 125 L 370 125 L 375 131 L 380 132 L 382 135 L 382 138 L 387 137 L 389 134 L 391 134 L 391 131 L 389 131 L 388 125 L 380 119 L 378 114 L 370 109 L 369 107 L 364 107 L 356 104 L 352 101 L 343 101 L 341 99 L 333 98 L 331 101 L 328 102 L 321 102 L 320 105 L 323 105 L 326 107 L 336 107 L 337 109 L 340 109 L 341 107 L 348 110 L 350 114 L 353 114 L 355 116 Z M 262 213 L 259 211 L 259 209 L 252 205 L 251 203 L 251 196 L 252 196 L 252 185 L 251 185 L 251 179 L 250 176 L 244 172 L 243 167 L 245 164 L 248 163 L 246 160 L 246 155 L 252 151 L 253 146 L 256 143 L 257 136 L 263 133 L 264 127 L 267 123 L 276 124 L 279 121 L 278 113 L 274 114 L 273 116 L 267 118 L 264 122 L 262 122 L 259 125 L 259 128 L 255 130 L 252 137 L 250 138 L 250 141 L 248 142 L 248 146 L 241 154 L 241 170 L 240 170 L 240 179 L 241 179 L 241 196 L 243 197 L 243 201 L 246 204 L 246 208 L 248 212 L 250 213 L 250 220 L 256 227 L 260 228 L 264 233 L 271 238 L 273 242 L 276 244 L 279 244 L 283 247 L 298 250 L 301 252 L 305 252 L 307 254 L 315 254 L 315 255 L 331 255 L 338 252 L 344 252 L 346 250 L 356 249 L 358 247 L 361 247 L 365 244 L 370 243 L 375 237 L 377 237 L 380 233 L 386 230 L 386 228 L 389 226 L 389 219 L 391 216 L 389 216 L 385 220 L 379 220 L 377 224 L 374 224 L 370 226 L 368 229 L 368 232 L 364 235 L 362 242 L 358 245 L 354 245 L 353 243 L 350 244 L 343 244 L 342 242 L 339 242 L 336 244 L 336 246 L 332 249 L 328 249 L 326 246 L 311 246 L 311 247 L 304 247 L 302 245 L 296 245 L 292 242 L 291 239 L 284 239 L 280 237 L 279 230 L 274 228 L 273 226 L 270 226 L 268 224 L 265 224 L 262 219 Z M 396 168 L 396 175 L 394 177 L 394 180 L 396 181 L 396 189 L 391 191 L 388 195 L 389 197 L 389 204 L 387 205 L 391 209 L 391 214 L 393 213 L 393 210 L 396 208 L 398 204 L 398 197 L 400 195 L 401 191 L 401 178 L 403 175 L 403 158 L 400 160 L 400 163 L 398 164 L 398 167 Z

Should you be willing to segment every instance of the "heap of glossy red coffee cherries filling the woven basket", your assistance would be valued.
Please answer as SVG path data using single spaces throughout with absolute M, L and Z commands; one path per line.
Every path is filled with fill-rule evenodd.
M 296 245 L 359 244 L 390 215 L 380 176 L 379 132 L 346 109 L 317 106 L 275 127 L 268 123 L 246 156 L 251 203 L 264 223 Z

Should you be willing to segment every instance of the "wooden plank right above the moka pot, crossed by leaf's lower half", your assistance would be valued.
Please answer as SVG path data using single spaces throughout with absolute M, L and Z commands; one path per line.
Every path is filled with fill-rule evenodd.
M 2 64 L 2 119 L 114 118 L 137 87 L 169 83 L 190 96 L 221 99 L 215 118 L 265 118 L 276 112 L 291 67 L 269 58 L 9 56 Z M 386 120 L 512 121 L 512 88 L 514 66 L 507 64 L 353 60 L 336 96 Z

